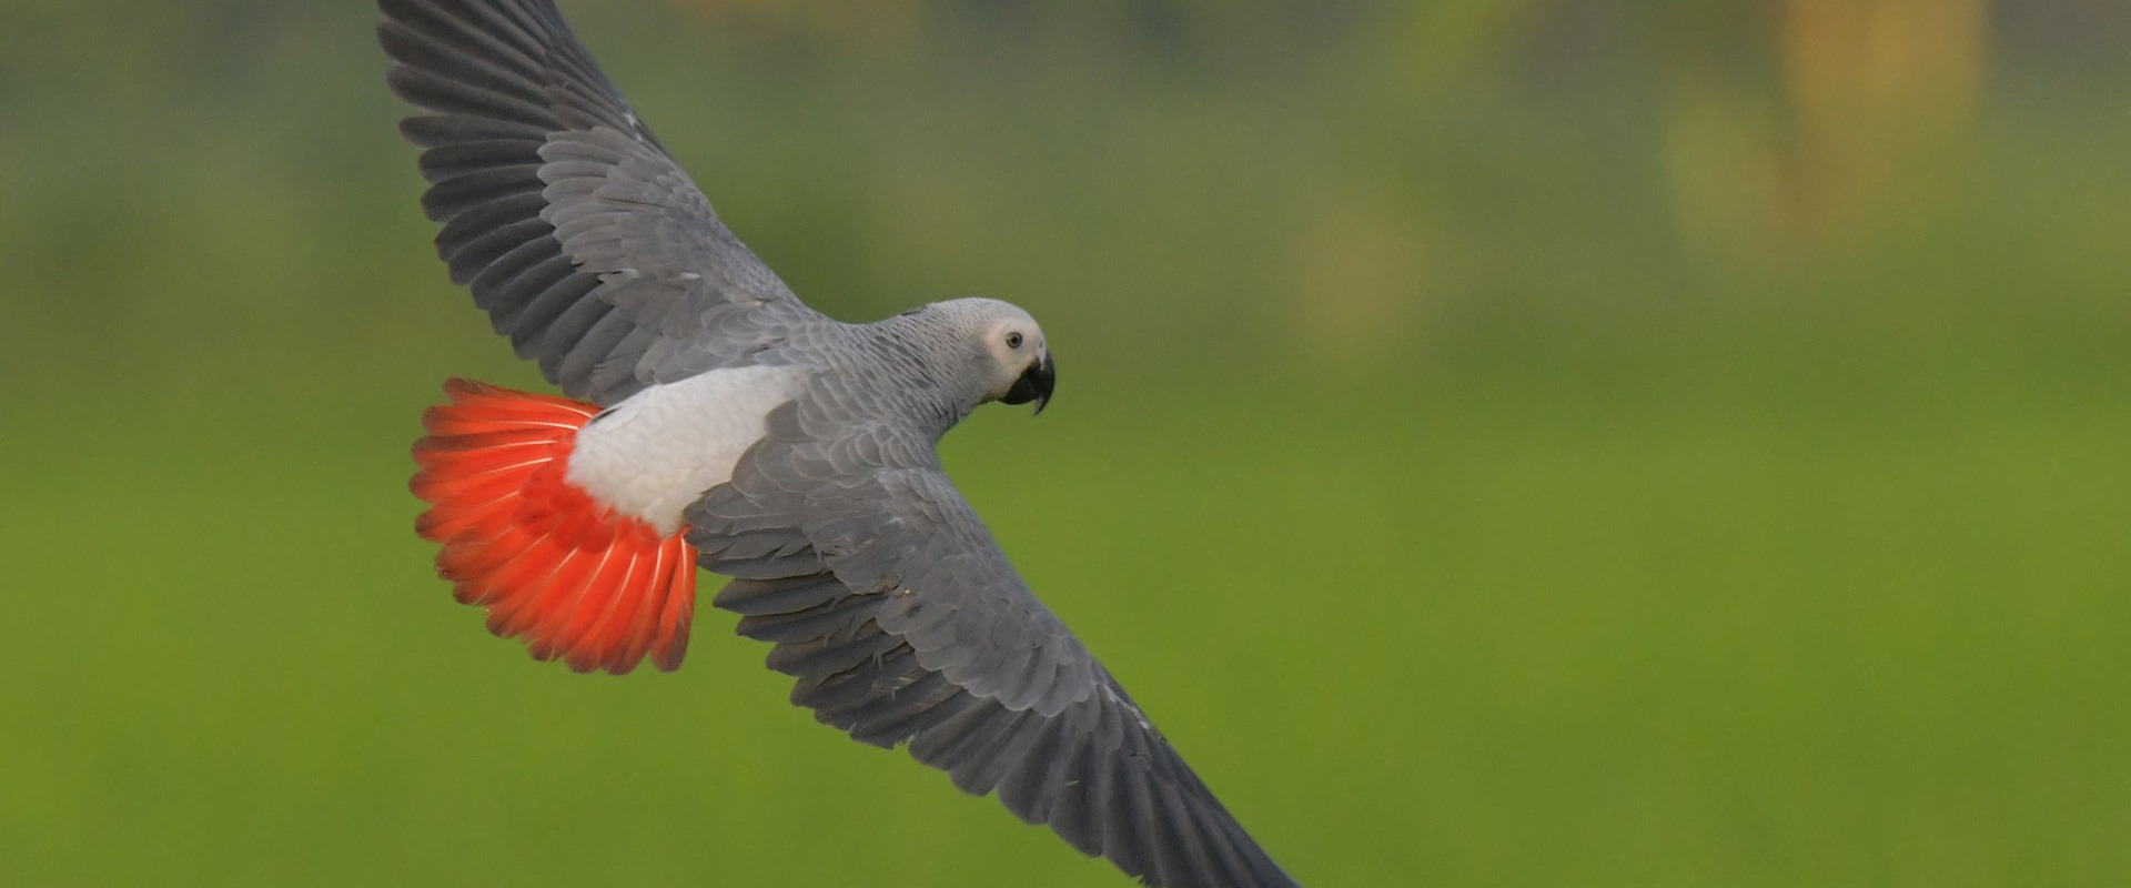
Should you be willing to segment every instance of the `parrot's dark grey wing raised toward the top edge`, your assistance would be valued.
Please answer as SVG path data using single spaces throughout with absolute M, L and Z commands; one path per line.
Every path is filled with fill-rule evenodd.
M 573 398 L 746 362 L 818 319 L 712 213 L 550 0 L 379 0 L 437 253 Z

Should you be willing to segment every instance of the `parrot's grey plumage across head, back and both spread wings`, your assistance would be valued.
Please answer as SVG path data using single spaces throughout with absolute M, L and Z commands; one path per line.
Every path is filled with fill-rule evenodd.
M 735 577 L 714 603 L 774 645 L 795 705 L 908 745 L 1146 884 L 1294 884 L 940 468 L 950 426 L 1016 400 L 970 373 L 976 330 L 1027 315 L 953 300 L 863 326 L 823 317 L 718 221 L 550 2 L 379 6 L 390 85 L 426 111 L 403 132 L 424 149 L 437 251 L 522 358 L 601 405 L 722 368 L 806 371 L 682 513 L 699 564 Z M 1031 347 L 1021 400 L 1048 398 L 1048 349 Z

